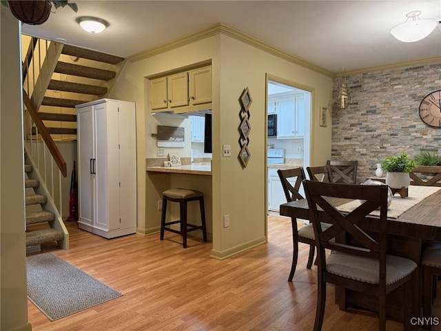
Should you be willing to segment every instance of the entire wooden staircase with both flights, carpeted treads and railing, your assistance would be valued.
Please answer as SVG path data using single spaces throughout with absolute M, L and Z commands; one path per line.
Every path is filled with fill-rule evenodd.
M 43 41 L 48 47 L 46 51 L 37 52 L 36 45 L 41 43 L 41 39 L 29 38 L 32 44 L 23 60 L 23 103 L 28 113 L 23 128 L 32 118 L 30 125 L 23 129 L 26 132 L 26 248 L 27 252 L 35 252 L 44 243 L 57 242 L 61 248 L 67 249 L 69 233 L 61 219 L 61 204 L 56 204 L 62 200 L 61 177 L 66 177 L 67 172 L 63 156 L 54 141 L 76 140 L 75 106 L 107 97 L 124 59 L 58 43 L 48 47 L 48 41 Z M 33 49 L 45 54 L 45 58 L 34 54 Z M 40 59 L 37 60 L 37 57 Z M 35 78 L 26 76 L 34 72 L 30 66 L 32 61 L 44 62 L 41 74 Z M 32 86 L 29 86 L 29 81 Z M 52 164 L 40 164 L 41 159 L 47 158 L 45 152 L 41 154 L 41 145 L 50 151 Z M 50 170 L 52 174 L 48 175 L 48 169 L 54 168 L 54 163 L 58 165 L 59 174 Z M 58 186 L 58 192 L 55 192 Z

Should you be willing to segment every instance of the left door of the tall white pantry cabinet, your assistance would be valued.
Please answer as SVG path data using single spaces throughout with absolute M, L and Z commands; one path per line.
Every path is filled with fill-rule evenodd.
M 95 219 L 95 119 L 93 106 L 78 108 L 77 117 L 79 221 L 81 223 L 93 225 Z

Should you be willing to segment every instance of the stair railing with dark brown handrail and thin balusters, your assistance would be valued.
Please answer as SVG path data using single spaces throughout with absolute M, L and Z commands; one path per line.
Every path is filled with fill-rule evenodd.
M 66 163 L 38 115 L 63 45 L 27 36 L 22 37 L 22 43 L 29 38 L 28 51 L 23 56 L 24 141 L 28 154 L 34 160 L 34 168 L 48 188 L 50 199 L 57 201 L 59 214 L 63 214 L 61 177 L 67 177 Z

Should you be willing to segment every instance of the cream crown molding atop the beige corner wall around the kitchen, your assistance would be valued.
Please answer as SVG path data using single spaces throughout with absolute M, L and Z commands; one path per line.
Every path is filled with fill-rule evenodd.
M 318 66 L 314 66 L 313 63 L 310 63 L 304 59 L 300 59 L 299 57 L 295 57 L 294 55 L 289 54 L 288 52 L 285 52 L 284 50 L 280 50 L 274 46 L 271 46 L 263 41 L 260 41 L 254 37 L 251 37 L 249 34 L 246 34 L 245 32 L 241 32 L 241 31 L 236 30 L 230 26 L 227 26 L 224 23 L 218 23 L 218 24 L 211 26 L 205 30 L 201 30 L 200 32 L 196 32 L 194 34 L 189 34 L 189 35 L 182 37 L 180 39 L 176 39 L 175 41 L 172 41 L 170 43 L 165 43 L 161 46 L 151 48 L 150 50 L 145 50 L 143 52 L 139 52 L 137 54 L 131 55 L 130 57 L 127 57 L 127 60 L 131 61 L 131 62 L 140 61 L 143 59 L 147 59 L 149 57 L 154 57 L 155 55 L 161 54 L 163 52 L 168 52 L 170 50 L 174 50 L 176 48 L 188 45 L 189 43 L 194 43 L 194 42 L 202 40 L 202 39 L 216 36 L 218 34 L 224 34 L 228 37 L 234 38 L 238 41 L 241 41 L 243 43 L 247 43 L 250 46 L 258 48 L 259 50 L 263 50 L 269 54 L 273 54 L 276 57 L 280 57 L 281 59 L 285 59 L 285 60 L 290 61 L 292 63 L 296 63 L 299 66 L 305 67 L 309 70 L 314 70 L 315 72 L 318 72 L 320 74 L 324 74 L 325 76 L 333 77 L 333 73 L 329 72 L 328 70 L 325 70 L 325 69 L 320 68 Z

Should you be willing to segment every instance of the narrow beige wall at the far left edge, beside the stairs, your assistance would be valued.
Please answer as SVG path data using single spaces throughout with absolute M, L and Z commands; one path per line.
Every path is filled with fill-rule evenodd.
M 0 329 L 31 330 L 26 297 L 19 21 L 8 9 L 0 8 Z

